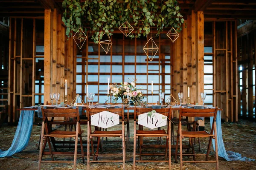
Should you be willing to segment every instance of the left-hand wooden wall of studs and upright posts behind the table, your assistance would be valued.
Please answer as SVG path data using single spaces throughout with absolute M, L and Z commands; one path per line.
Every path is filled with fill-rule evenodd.
M 59 102 L 64 102 L 65 79 L 67 102 L 71 103 L 73 38 L 67 40 L 57 9 L 45 10 L 45 17 L 12 17 L 9 30 L 8 122 L 19 119 L 17 108 L 35 105 L 35 97 L 44 104 L 50 102 L 50 93 L 60 93 Z M 36 51 L 40 45 L 43 52 Z

